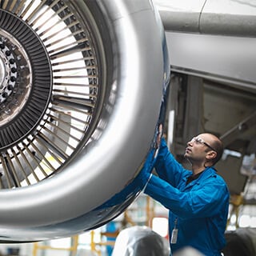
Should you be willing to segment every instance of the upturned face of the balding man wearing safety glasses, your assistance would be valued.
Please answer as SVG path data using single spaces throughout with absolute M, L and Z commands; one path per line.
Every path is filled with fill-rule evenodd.
M 213 151 L 212 143 L 213 138 L 210 134 L 199 134 L 187 142 L 185 158 L 189 159 L 190 162 L 204 162 L 206 155 Z

